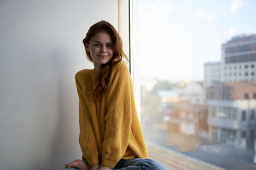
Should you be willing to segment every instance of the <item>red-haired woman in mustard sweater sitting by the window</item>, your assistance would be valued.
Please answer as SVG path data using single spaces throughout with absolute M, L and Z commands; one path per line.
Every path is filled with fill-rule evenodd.
M 94 65 L 94 69 L 76 74 L 83 156 L 65 166 L 80 170 L 164 169 L 148 159 L 118 32 L 100 21 L 90 27 L 83 43 Z

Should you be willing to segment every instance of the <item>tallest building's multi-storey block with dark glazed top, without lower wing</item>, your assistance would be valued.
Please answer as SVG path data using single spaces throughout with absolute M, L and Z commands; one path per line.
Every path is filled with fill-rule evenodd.
M 221 81 L 256 80 L 256 34 L 235 36 L 221 45 Z

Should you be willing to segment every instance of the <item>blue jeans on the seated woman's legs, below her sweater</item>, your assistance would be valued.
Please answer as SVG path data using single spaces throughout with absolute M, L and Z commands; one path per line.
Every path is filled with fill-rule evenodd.
M 86 161 L 84 161 L 86 162 Z M 134 158 L 134 159 L 121 159 L 116 164 L 113 170 L 122 169 L 122 170 L 165 170 L 165 167 L 152 159 L 142 159 L 142 158 Z M 67 170 L 65 168 L 60 170 Z M 76 168 L 70 168 L 68 170 L 77 170 Z

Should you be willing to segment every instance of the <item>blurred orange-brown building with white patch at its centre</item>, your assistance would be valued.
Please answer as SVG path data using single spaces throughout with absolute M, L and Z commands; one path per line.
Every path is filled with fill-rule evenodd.
M 176 103 L 172 106 L 169 122 L 168 144 L 182 151 L 195 150 L 207 136 L 207 106 Z

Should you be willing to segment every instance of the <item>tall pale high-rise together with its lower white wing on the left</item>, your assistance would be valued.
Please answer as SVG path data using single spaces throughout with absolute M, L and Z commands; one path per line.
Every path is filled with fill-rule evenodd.
M 256 34 L 234 36 L 221 45 L 221 62 L 204 64 L 204 86 L 256 80 Z

